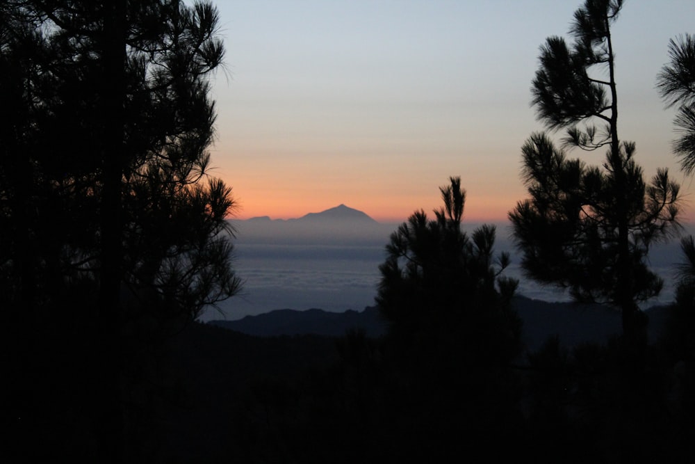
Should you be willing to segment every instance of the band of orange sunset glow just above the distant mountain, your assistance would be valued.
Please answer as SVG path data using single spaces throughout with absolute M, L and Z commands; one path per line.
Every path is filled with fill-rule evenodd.
M 361 182 L 348 175 L 347 179 L 327 183 L 322 182 L 323 179 L 301 179 L 300 173 L 290 170 L 281 179 L 263 173 L 236 179 L 227 174 L 223 178 L 233 186 L 238 219 L 297 218 L 345 204 L 385 223 L 404 221 L 419 209 L 431 214 L 433 209 L 441 207 L 439 186 L 448 183 L 448 175 L 436 176 L 436 180 L 423 179 L 419 183 L 409 180 L 407 184 L 401 184 L 399 177 L 388 179 L 379 178 L 379 173 L 374 175 L 365 175 Z M 478 177 L 475 182 L 468 179 L 466 185 L 466 176 L 462 177 L 466 189 L 466 221 L 505 221 L 507 212 L 523 197 L 520 183 L 507 186 L 505 190 L 496 185 L 499 179 Z

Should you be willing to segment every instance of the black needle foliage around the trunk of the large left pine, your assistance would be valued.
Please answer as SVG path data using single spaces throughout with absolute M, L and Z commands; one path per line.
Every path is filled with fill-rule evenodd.
M 121 88 L 103 85 L 108 39 L 100 28 L 108 8 L 17 1 L 3 11 L 3 98 L 11 100 L 3 111 L 3 219 L 13 224 L 3 227 L 11 253 L 3 264 L 101 280 L 103 220 L 115 216 L 119 286 L 156 289 L 195 317 L 239 283 L 225 221 L 231 189 L 207 174 L 215 114 L 206 76 L 223 54 L 217 13 L 205 3 L 123 4 Z M 121 120 L 100 113 L 106 94 L 120 95 Z M 106 205 L 104 145 L 111 141 L 104 134 L 114 125 L 118 150 L 108 156 L 117 157 L 118 195 Z M 19 246 L 41 232 L 41 242 Z M 33 263 L 18 259 L 49 246 L 58 249 L 33 252 L 40 253 Z M 49 265 L 55 269 L 42 272 Z M 4 293 L 27 285 L 40 283 L 18 281 Z

